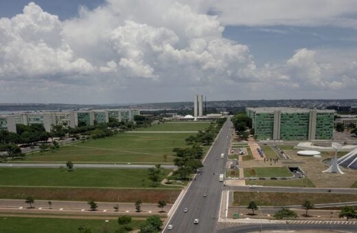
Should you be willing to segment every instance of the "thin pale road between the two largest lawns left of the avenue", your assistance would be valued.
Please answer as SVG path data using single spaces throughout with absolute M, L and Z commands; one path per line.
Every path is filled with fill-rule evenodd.
M 65 163 L 5 163 L 1 164 L 0 167 L 34 167 L 34 168 L 61 168 L 66 167 Z M 74 168 L 85 168 L 85 169 L 148 169 L 150 167 L 155 167 L 155 165 L 142 165 L 142 164 L 74 164 Z M 163 169 L 176 169 L 174 165 L 161 165 Z

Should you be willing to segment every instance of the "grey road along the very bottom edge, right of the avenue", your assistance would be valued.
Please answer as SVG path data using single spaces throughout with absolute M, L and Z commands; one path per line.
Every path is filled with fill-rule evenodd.
M 259 232 L 260 224 L 255 225 L 238 225 L 232 228 L 223 228 L 218 233 L 238 233 L 238 232 Z M 292 230 L 335 230 L 344 232 L 357 232 L 356 225 L 330 225 L 330 224 L 262 224 L 262 231 L 292 231 Z

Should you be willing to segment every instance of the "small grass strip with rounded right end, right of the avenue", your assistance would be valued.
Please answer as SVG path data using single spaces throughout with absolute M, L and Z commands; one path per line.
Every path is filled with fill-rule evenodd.
M 311 180 L 302 178 L 297 180 L 246 180 L 246 185 L 284 186 L 284 187 L 314 187 Z

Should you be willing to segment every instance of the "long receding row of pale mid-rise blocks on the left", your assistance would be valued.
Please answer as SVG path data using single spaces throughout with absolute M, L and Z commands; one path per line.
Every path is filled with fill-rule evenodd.
M 119 109 L 3 115 L 0 116 L 0 130 L 16 132 L 16 124 L 41 124 L 47 132 L 51 132 L 52 125 L 63 125 L 64 127 L 95 125 L 96 123 L 108 123 L 110 117 L 128 122 L 134 121 L 134 116 L 139 114 L 140 111 L 137 109 Z

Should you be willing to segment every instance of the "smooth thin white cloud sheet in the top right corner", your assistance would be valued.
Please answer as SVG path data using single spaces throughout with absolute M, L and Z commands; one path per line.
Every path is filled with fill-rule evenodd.
M 357 29 L 354 0 L 222 0 L 211 10 L 223 25 L 295 25 Z

